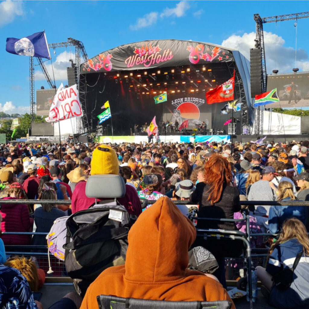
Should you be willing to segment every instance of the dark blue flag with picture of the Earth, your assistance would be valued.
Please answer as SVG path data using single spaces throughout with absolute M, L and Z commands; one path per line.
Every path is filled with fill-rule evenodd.
M 45 31 L 21 39 L 6 38 L 6 51 L 15 55 L 51 59 Z

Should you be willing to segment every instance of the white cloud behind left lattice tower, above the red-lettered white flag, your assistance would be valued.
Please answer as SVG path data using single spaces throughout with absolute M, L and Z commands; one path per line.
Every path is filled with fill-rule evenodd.
M 56 60 L 53 60 L 53 67 L 54 67 L 56 81 L 60 80 L 62 83 L 66 83 L 66 81 L 68 80 L 68 74 L 67 74 L 66 68 L 71 66 L 71 62 L 69 61 L 69 59 L 73 59 L 75 63 L 75 53 L 69 53 L 67 51 L 64 51 L 56 57 Z M 81 62 L 83 61 L 82 59 L 83 58 L 81 58 Z M 52 70 L 52 65 L 50 64 L 50 61 L 49 60 L 45 61 L 44 65 L 53 83 L 53 70 Z M 45 80 L 45 76 L 42 70 L 40 69 L 40 67 L 36 66 L 36 68 L 38 69 L 35 70 L 34 72 L 35 80 Z

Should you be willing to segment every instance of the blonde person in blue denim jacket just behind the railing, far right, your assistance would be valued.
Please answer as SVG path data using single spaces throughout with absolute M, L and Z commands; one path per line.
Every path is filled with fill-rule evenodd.
M 295 201 L 293 187 L 289 181 L 281 181 L 278 186 L 277 201 Z M 269 233 L 277 234 L 286 219 L 297 218 L 304 225 L 307 222 L 307 206 L 270 206 L 268 217 Z

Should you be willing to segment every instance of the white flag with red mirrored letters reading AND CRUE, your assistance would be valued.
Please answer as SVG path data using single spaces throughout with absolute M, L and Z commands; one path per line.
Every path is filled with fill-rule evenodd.
M 79 102 L 77 85 L 64 88 L 61 83 L 49 109 L 46 122 L 53 123 L 65 119 L 83 116 L 82 106 Z

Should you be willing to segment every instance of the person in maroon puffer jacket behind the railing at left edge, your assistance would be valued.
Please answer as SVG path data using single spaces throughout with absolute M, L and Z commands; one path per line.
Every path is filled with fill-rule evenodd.
M 3 200 L 20 199 L 23 193 L 23 187 L 20 183 L 14 182 L 9 189 L 9 197 Z M 1 204 L 1 200 L 0 200 Z M 2 232 L 31 232 L 33 219 L 30 218 L 29 208 L 20 201 L 20 204 L 1 204 Z M 2 240 L 6 245 L 28 245 L 30 243 L 29 235 L 2 235 Z

